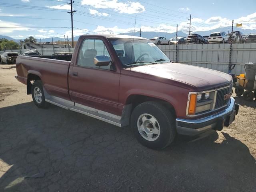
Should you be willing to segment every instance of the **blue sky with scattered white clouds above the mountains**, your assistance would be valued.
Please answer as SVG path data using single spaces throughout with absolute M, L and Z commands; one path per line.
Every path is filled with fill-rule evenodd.
M 71 37 L 69 0 L 1 0 L 0 34 L 12 38 Z M 118 34 L 135 30 L 175 32 L 206 31 L 243 23 L 243 29 L 256 29 L 256 0 L 75 0 L 74 36 L 85 33 Z M 9 27 L 9 28 L 5 28 Z M 24 28 L 26 27 L 26 28 Z M 57 34 L 60 33 L 60 34 Z

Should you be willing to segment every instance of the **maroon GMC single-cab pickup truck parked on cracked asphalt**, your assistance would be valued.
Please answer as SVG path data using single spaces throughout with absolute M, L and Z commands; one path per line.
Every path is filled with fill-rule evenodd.
M 204 137 L 238 113 L 228 74 L 173 63 L 150 40 L 80 36 L 73 56 L 18 56 L 16 79 L 34 103 L 116 126 L 130 124 L 144 146 L 161 149 L 177 134 Z

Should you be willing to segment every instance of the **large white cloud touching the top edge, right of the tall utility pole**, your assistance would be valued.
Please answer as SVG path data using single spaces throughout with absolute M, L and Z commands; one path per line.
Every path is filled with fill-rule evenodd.
M 94 8 L 109 8 L 119 13 L 141 13 L 145 8 L 139 2 L 128 1 L 126 3 L 118 2 L 117 0 L 82 0 L 82 5 L 90 5 Z

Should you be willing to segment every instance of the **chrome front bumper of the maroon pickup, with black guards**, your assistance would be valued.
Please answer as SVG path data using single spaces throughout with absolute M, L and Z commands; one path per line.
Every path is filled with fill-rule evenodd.
M 187 136 L 198 136 L 212 133 L 213 130 L 222 130 L 224 126 L 229 126 L 238 114 L 239 105 L 231 97 L 228 107 L 224 110 L 196 120 L 176 118 L 176 129 L 178 134 Z M 232 118 L 230 120 L 230 118 Z

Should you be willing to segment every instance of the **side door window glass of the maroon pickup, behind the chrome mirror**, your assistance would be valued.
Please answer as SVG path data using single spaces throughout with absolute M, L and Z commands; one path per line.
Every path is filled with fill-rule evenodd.
M 110 58 L 108 50 L 106 49 L 106 46 L 102 40 L 84 39 L 84 42 L 82 43 L 82 46 L 78 54 L 77 65 L 82 67 L 109 70 L 110 64 L 108 66 L 96 66 L 94 64 L 94 57 L 103 55 L 108 56 Z

